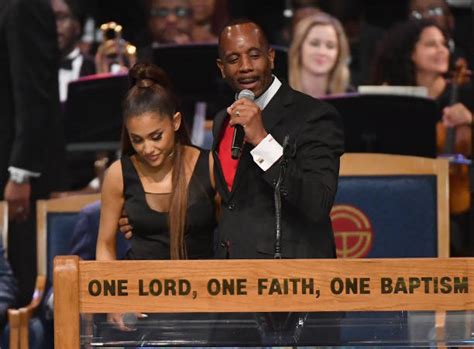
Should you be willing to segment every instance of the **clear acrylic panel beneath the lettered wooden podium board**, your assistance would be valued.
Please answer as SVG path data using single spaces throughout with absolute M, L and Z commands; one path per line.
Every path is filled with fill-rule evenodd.
M 106 314 L 82 314 L 81 348 L 94 347 L 469 347 L 474 313 L 126 314 L 120 331 Z

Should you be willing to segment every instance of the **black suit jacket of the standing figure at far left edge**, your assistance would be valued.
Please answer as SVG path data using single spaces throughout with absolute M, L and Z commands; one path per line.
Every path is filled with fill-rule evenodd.
M 58 61 L 49 0 L 0 1 L 0 198 L 8 166 L 41 173 L 31 181 L 33 197 L 57 182 Z

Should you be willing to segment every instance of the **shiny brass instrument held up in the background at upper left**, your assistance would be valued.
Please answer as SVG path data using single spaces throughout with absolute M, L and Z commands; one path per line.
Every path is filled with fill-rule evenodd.
M 125 73 L 137 61 L 137 49 L 122 38 L 122 26 L 116 22 L 100 26 L 102 43 L 95 57 L 97 73 Z

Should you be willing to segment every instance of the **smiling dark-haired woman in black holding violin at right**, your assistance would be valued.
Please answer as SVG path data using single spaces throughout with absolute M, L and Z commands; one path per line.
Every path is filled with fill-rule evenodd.
M 468 154 L 471 149 L 472 113 L 474 110 L 471 85 L 454 86 L 446 79 L 449 69 L 447 37 L 441 28 L 431 20 L 410 20 L 390 30 L 380 46 L 374 70 L 374 83 L 399 86 L 422 86 L 428 96 L 440 107 L 442 124 L 454 127 Z M 456 89 L 457 100 L 453 100 Z M 438 127 L 438 141 L 442 134 Z M 463 144 L 460 145 L 463 145 Z M 441 149 L 442 150 L 442 149 Z M 469 183 L 466 183 L 469 186 Z M 453 198 L 466 195 L 469 188 L 455 192 L 451 188 L 451 255 L 466 255 L 469 240 L 469 207 L 458 209 Z M 472 206 L 472 205 L 471 205 Z M 472 251 L 470 252 L 472 253 Z

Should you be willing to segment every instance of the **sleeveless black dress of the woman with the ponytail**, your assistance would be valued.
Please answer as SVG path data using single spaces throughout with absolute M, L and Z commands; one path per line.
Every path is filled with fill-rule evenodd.
M 170 259 L 168 213 L 153 209 L 160 195 L 144 191 L 138 172 L 128 156 L 121 159 L 125 212 L 133 227 L 127 259 Z M 164 194 L 164 196 L 170 194 Z M 209 152 L 202 151 L 192 173 L 188 189 L 185 244 L 188 259 L 213 256 L 216 227 L 214 189 L 209 179 Z

